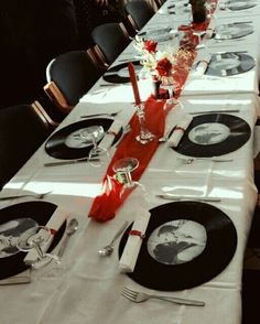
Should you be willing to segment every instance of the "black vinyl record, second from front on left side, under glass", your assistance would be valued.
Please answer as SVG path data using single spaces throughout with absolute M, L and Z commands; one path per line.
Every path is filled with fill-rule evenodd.
M 78 147 L 74 143 L 73 136 L 77 134 L 82 130 L 88 127 L 101 126 L 106 131 L 110 128 L 113 120 L 108 118 L 89 118 L 84 119 L 75 123 L 71 123 L 58 131 L 56 131 L 45 144 L 45 151 L 51 156 L 56 159 L 80 159 L 87 158 L 89 154 L 90 149 L 93 148 L 91 141 L 87 142 L 86 144 L 83 141 L 77 141 Z M 113 144 L 119 140 L 122 136 L 122 129 L 119 133 L 115 137 Z M 98 140 L 100 142 L 101 138 Z

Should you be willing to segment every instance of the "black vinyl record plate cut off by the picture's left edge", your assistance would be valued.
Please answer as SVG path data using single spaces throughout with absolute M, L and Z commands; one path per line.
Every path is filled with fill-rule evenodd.
M 9 278 L 15 276 L 30 267 L 23 262 L 23 259 L 26 256 L 26 252 L 19 251 L 15 247 L 13 248 L 3 248 L 4 241 L 8 237 L 18 236 L 22 233 L 19 233 L 19 225 L 21 220 L 25 222 L 35 222 L 35 225 L 45 226 L 55 209 L 57 208 L 56 205 L 47 202 L 26 202 L 20 203 L 15 205 L 11 205 L 9 207 L 0 209 L 0 226 L 7 227 L 7 225 L 12 225 L 12 223 L 18 224 L 17 227 L 13 229 L 6 229 L 1 228 L 0 233 L 0 279 Z M 12 226 L 14 226 L 12 225 Z M 32 226 L 35 226 L 32 225 Z M 30 228 L 30 224 L 26 228 Z M 25 230 L 24 228 L 23 230 Z M 66 222 L 59 228 L 57 234 L 54 236 L 53 242 L 48 249 L 52 251 L 55 246 L 59 242 L 63 237 L 63 234 L 66 228 Z M 12 235 L 11 231 L 15 231 L 15 235 Z M 21 230 L 22 231 L 22 230 Z

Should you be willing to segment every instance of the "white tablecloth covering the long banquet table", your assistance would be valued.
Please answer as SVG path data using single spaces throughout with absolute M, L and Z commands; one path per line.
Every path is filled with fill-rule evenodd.
M 172 2 L 172 0 L 166 1 L 164 8 Z M 178 3 L 182 2 L 178 1 Z M 221 1 L 218 2 L 218 6 L 220 4 Z M 4 186 L 1 196 L 52 191 L 45 201 L 63 207 L 69 214 L 69 218 L 76 217 L 79 228 L 69 240 L 62 259 L 63 270 L 59 276 L 52 278 L 44 273 L 41 276 L 40 272 L 36 280 L 29 284 L 1 285 L 1 323 L 238 324 L 241 322 L 243 252 L 257 201 L 257 188 L 253 183 L 253 129 L 260 107 L 258 98 L 259 7 L 258 3 L 253 10 L 246 10 L 248 14 L 242 14 L 242 10 L 239 12 L 219 8 L 216 10 L 215 23 L 217 24 L 230 23 L 230 21 L 252 21 L 253 35 L 243 37 L 245 41 L 227 40 L 214 43 L 213 40 L 205 39 L 205 44 L 212 53 L 214 51 L 245 51 L 246 48 L 256 60 L 256 66 L 249 72 L 224 77 L 221 80 L 204 76 L 195 78 L 192 69 L 180 97 L 186 112 L 196 110 L 223 110 L 225 112 L 234 108 L 239 110 L 227 114 L 246 120 L 250 126 L 251 137 L 235 152 L 221 155 L 231 161 L 217 163 L 208 159 L 185 164 L 180 159 L 182 158 L 180 153 L 170 149 L 166 143 L 162 143 L 140 179 L 140 183 L 148 193 L 145 202 L 141 204 L 139 192 L 133 191 L 117 210 L 116 217 L 107 223 L 97 223 L 88 218 L 94 198 L 100 193 L 107 164 L 100 168 L 94 168 L 89 163 L 45 168 L 45 162 L 57 160 L 47 155 L 42 145 Z M 176 21 L 180 24 L 186 23 L 187 18 L 180 14 L 174 21 L 173 14 L 158 12 L 144 26 L 144 30 L 156 25 L 176 24 Z M 115 64 L 120 63 L 121 60 L 133 58 L 133 53 L 132 44 L 130 44 Z M 199 60 L 202 53 L 198 53 L 196 60 Z M 104 84 L 105 82 L 100 78 L 58 129 L 80 120 L 82 115 L 119 109 L 122 111 L 116 119 L 126 126 L 134 114 L 131 85 L 106 84 L 104 86 Z M 139 87 L 141 97 L 145 100 L 151 88 L 145 80 L 140 80 Z M 175 122 L 175 115 L 170 111 L 165 129 L 170 129 Z M 113 147 L 110 154 L 112 155 L 115 151 Z M 134 215 L 143 207 L 151 209 L 169 203 L 155 196 L 162 192 L 182 195 L 184 201 L 191 201 L 193 197 L 196 201 L 198 196 L 219 198 L 219 202 L 213 202 L 210 205 L 228 215 L 236 227 L 237 249 L 221 273 L 192 289 L 164 292 L 169 296 L 203 300 L 206 303 L 204 307 L 177 305 L 159 300 L 150 300 L 140 304 L 132 303 L 121 295 L 124 285 L 143 292 L 159 292 L 149 290 L 131 280 L 127 274 L 120 273 L 117 252 L 119 241 L 116 244 L 116 251 L 110 257 L 100 258 L 98 256 L 99 248 L 111 239 L 124 220 L 132 222 Z M 0 208 L 30 201 L 30 198 L 17 202 L 1 201 Z M 158 276 L 160 277 L 160 273 Z

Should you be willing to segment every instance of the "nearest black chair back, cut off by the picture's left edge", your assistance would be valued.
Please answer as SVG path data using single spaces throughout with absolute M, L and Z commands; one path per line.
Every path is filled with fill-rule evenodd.
M 44 115 L 31 105 L 0 109 L 0 190 L 50 133 Z

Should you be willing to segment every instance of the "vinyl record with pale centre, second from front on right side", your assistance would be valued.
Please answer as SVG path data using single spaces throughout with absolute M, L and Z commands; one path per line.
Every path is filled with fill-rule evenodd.
M 219 156 L 241 148 L 250 138 L 250 126 L 227 114 L 208 114 L 193 118 L 176 152 L 195 158 Z

